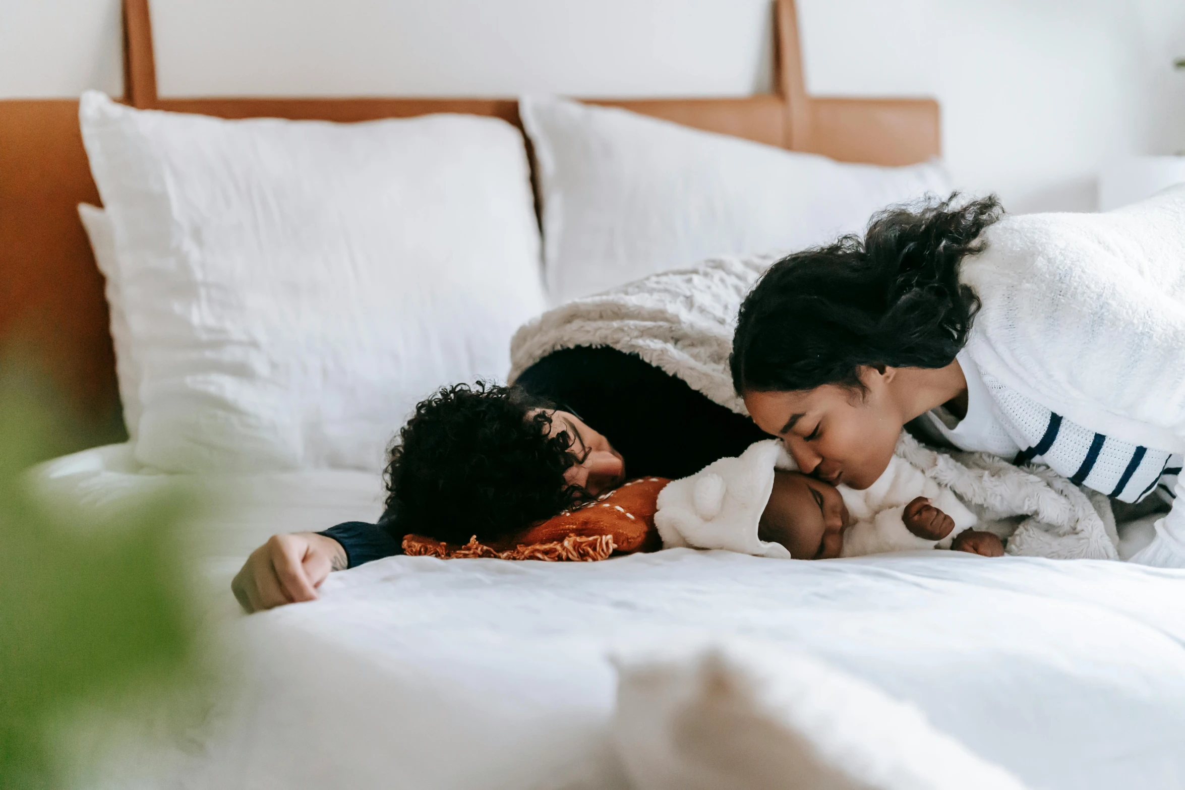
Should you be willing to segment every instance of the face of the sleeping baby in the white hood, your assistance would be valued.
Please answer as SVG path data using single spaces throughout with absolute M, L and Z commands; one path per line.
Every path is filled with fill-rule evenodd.
M 831 559 L 839 557 L 851 524 L 834 486 L 798 471 L 776 471 L 757 535 L 786 546 L 794 559 Z

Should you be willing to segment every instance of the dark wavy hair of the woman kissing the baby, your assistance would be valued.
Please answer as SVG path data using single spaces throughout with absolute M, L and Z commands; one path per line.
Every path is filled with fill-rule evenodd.
M 967 342 L 980 302 L 959 282 L 965 256 L 1004 213 L 995 195 L 959 193 L 890 207 L 864 237 L 795 252 L 741 306 L 729 359 L 736 391 L 864 390 L 860 367 L 944 367 Z

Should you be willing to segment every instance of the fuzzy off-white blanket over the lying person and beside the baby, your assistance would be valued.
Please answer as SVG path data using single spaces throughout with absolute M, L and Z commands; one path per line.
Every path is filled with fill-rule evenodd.
M 779 256 L 716 258 L 562 304 L 511 341 L 511 375 L 561 348 L 634 353 L 738 413 L 729 353 L 741 301 Z M 984 454 L 936 451 L 902 432 L 897 455 L 971 505 L 1007 539 L 1010 554 L 1117 559 L 1110 506 L 1049 469 L 1019 469 Z M 1093 502 L 1093 500 L 1094 502 Z

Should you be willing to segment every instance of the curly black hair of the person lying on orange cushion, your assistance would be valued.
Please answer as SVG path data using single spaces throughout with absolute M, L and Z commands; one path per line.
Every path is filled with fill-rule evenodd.
M 550 436 L 555 404 L 485 381 L 419 402 L 390 449 L 383 527 L 396 539 L 498 540 L 588 499 L 564 473 L 579 458 Z

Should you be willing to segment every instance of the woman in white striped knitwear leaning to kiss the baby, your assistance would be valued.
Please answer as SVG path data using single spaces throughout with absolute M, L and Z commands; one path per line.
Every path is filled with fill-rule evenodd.
M 1185 221 L 1185 191 L 1174 194 L 1157 207 L 1170 224 Z M 1075 256 L 1107 249 L 1106 233 L 1090 229 L 1108 216 L 1003 214 L 994 197 L 957 194 L 891 208 L 863 238 L 771 266 L 741 307 L 730 359 L 749 413 L 783 437 L 803 471 L 831 483 L 871 486 L 909 423 L 930 443 L 1040 461 L 1122 501 L 1153 490 L 1172 501 L 1181 431 L 1149 419 L 1147 398 L 1130 388 L 1151 394 L 1165 381 L 1146 364 L 1148 332 L 1134 317 L 1125 327 L 1107 309 L 1107 288 L 1075 276 Z M 1075 332 L 1094 338 L 1089 349 L 1074 347 Z M 1185 361 L 1185 349 L 1176 353 Z M 1084 354 L 1100 367 L 1083 370 Z M 1114 384 L 1133 371 L 1127 388 Z M 1185 377 L 1170 378 L 1161 403 L 1172 410 Z M 1179 509 L 1135 561 L 1185 567 Z

